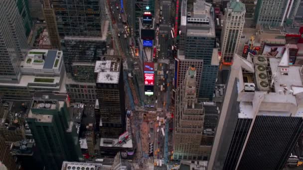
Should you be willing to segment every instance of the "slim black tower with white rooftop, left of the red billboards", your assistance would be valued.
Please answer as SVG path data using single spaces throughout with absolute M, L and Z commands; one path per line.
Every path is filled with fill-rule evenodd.
M 102 137 L 118 138 L 126 130 L 125 92 L 121 57 L 97 61 L 96 93 L 99 101 Z

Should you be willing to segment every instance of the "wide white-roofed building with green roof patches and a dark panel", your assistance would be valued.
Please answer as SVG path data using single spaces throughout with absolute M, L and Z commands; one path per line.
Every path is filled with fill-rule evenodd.
M 19 64 L 18 83 L 0 83 L 3 99 L 30 100 L 36 91 L 66 93 L 63 53 L 58 50 L 29 50 Z

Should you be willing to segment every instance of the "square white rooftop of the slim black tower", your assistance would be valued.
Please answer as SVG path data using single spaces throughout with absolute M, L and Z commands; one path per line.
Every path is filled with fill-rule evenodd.
M 121 69 L 120 64 L 120 59 L 96 61 L 95 73 L 98 73 L 97 83 L 118 84 Z

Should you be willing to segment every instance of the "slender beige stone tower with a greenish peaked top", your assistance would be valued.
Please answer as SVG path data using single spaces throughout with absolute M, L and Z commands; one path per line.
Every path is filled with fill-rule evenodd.
M 225 8 L 221 35 L 223 64 L 231 64 L 238 51 L 240 38 L 245 23 L 245 5 L 239 0 L 231 0 Z

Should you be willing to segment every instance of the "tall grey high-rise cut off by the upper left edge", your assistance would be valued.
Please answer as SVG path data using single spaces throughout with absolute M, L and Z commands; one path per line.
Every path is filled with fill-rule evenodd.
M 21 76 L 20 63 L 29 46 L 16 1 L 1 0 L 0 16 L 0 82 L 18 83 Z

